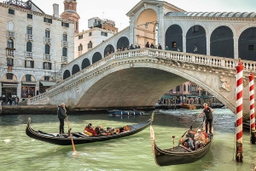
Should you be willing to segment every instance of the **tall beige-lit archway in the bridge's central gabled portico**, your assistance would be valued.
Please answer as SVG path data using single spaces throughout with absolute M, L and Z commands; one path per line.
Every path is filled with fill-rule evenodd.
M 158 24 L 158 17 L 154 9 L 143 10 L 137 18 L 136 26 L 133 30 L 133 44 L 145 47 L 146 43 L 157 43 L 155 34 Z

